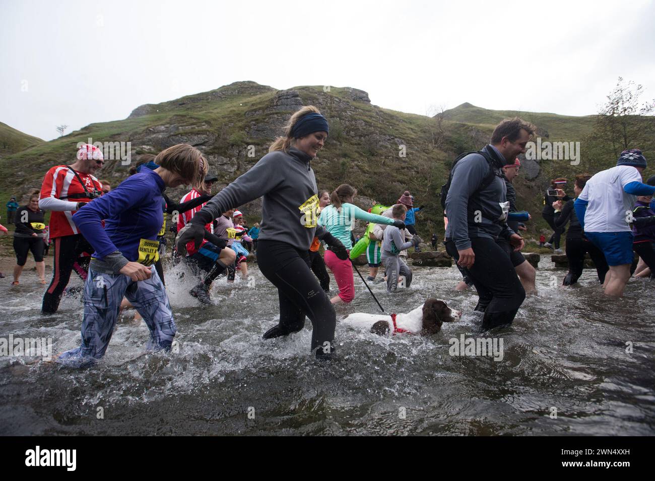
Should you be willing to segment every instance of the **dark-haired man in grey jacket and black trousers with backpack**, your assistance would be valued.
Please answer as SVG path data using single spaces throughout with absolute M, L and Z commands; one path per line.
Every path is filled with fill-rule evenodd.
M 523 248 L 521 236 L 506 223 L 509 203 L 501 169 L 525 153 L 535 130 L 520 118 L 503 120 L 482 149 L 484 155 L 469 154 L 453 167 L 445 201 L 446 251 L 470 273 L 480 298 L 476 310 L 485 313 L 483 330 L 511 324 L 525 299 L 512 261 L 496 240 L 507 240 L 516 251 Z M 490 169 L 493 180 L 485 182 Z

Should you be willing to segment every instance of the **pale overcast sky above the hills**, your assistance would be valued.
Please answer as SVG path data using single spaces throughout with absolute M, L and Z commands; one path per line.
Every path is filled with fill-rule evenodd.
M 238 80 L 589 115 L 619 76 L 655 98 L 653 20 L 642 0 L 0 0 L 0 122 L 50 140 Z

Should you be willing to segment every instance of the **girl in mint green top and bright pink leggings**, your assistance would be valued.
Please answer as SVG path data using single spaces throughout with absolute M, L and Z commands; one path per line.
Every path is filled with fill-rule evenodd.
M 340 185 L 330 196 L 332 204 L 323 209 L 318 218 L 318 224 L 324 226 L 330 234 L 339 239 L 346 249 L 350 250 L 352 247 L 350 232 L 354 228 L 355 219 L 376 224 L 395 225 L 398 228 L 405 227 L 403 221 L 394 221 L 394 219 L 382 215 L 371 214 L 353 205 L 352 201 L 356 194 L 357 190 L 350 185 Z M 339 294 L 331 298 L 330 302 L 332 304 L 352 302 L 355 298 L 355 287 L 350 259 L 341 260 L 335 253 L 327 249 L 324 260 L 339 286 Z

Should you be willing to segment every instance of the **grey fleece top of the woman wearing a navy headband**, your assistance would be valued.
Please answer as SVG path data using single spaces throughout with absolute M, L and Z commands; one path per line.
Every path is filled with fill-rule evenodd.
M 208 224 L 229 209 L 263 197 L 259 240 L 286 242 L 308 250 L 314 235 L 322 238 L 326 233 L 316 224 L 319 206 L 311 159 L 294 147 L 289 153 L 269 152 L 207 202 L 191 222 Z

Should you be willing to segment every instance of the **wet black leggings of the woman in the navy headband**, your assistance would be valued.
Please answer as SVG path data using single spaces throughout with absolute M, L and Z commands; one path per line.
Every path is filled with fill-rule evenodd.
M 312 321 L 312 351 L 324 347 L 325 342 L 333 350 L 337 315 L 310 270 L 308 251 L 280 241 L 260 240 L 257 244 L 259 270 L 278 288 L 282 332 L 303 329 L 307 315 Z

